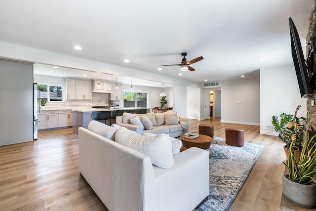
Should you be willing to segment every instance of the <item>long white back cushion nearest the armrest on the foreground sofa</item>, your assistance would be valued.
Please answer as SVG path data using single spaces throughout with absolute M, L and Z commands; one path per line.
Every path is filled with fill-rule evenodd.
M 149 156 L 152 164 L 163 169 L 174 165 L 172 144 L 169 135 L 144 136 L 121 127 L 115 133 L 116 142 Z

